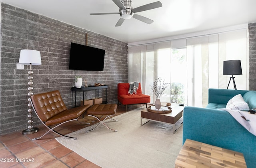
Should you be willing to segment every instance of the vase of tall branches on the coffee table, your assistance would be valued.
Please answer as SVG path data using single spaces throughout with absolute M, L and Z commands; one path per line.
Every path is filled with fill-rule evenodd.
M 156 95 L 156 101 L 154 103 L 156 109 L 161 108 L 160 97 L 164 93 L 166 87 L 169 85 L 169 83 L 165 83 L 164 81 L 162 81 L 160 77 L 157 77 L 153 83 L 153 86 L 151 86 L 153 93 Z

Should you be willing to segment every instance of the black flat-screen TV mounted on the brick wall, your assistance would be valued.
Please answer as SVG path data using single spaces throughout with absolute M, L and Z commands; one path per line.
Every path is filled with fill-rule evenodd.
M 71 43 L 69 69 L 103 71 L 105 50 Z

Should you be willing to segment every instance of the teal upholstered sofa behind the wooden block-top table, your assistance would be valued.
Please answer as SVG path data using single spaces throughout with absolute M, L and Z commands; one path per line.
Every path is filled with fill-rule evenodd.
M 250 109 L 256 108 L 256 91 L 209 89 L 206 108 L 184 107 L 183 143 L 196 140 L 244 154 L 248 168 L 256 167 L 256 136 L 240 125 L 226 108 L 228 101 L 241 94 Z

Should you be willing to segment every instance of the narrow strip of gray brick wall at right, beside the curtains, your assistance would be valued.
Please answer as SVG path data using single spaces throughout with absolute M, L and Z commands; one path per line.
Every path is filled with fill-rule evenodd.
M 249 90 L 256 90 L 256 23 L 249 28 Z

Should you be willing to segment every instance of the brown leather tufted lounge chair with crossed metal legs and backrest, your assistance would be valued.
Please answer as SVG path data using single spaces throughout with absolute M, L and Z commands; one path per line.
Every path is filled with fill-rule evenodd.
M 90 107 L 90 105 L 84 105 L 80 107 L 75 107 L 73 109 L 67 109 L 66 105 L 62 100 L 62 97 L 60 96 L 60 92 L 57 90 L 32 95 L 30 98 L 30 102 L 38 118 L 47 128 L 49 128 L 49 130 L 45 134 L 47 134 L 49 131 L 53 131 L 60 136 L 65 136 L 73 139 L 77 138 L 60 134 L 53 129 L 64 123 L 77 120 L 78 117 L 86 112 L 87 109 Z M 53 125 L 56 126 L 51 128 L 50 126 Z M 44 136 L 45 134 L 43 134 L 42 136 Z M 42 136 L 34 138 L 32 140 L 42 138 Z

